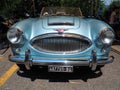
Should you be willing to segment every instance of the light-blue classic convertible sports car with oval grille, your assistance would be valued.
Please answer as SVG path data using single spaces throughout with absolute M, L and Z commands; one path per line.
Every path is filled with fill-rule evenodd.
M 46 7 L 38 18 L 14 24 L 7 33 L 20 68 L 47 66 L 49 72 L 73 72 L 75 66 L 111 63 L 113 29 L 103 21 L 82 16 L 79 8 Z

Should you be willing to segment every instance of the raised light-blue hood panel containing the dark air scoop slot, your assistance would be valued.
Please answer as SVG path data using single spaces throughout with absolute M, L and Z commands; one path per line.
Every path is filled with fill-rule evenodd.
M 79 28 L 80 20 L 75 17 L 54 16 L 43 18 L 43 27 L 46 29 L 56 28 Z

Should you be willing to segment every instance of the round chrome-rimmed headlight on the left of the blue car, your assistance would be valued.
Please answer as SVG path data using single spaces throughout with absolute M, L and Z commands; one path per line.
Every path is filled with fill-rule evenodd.
M 18 28 L 11 28 L 7 32 L 7 38 L 12 44 L 20 43 L 23 39 L 23 32 Z

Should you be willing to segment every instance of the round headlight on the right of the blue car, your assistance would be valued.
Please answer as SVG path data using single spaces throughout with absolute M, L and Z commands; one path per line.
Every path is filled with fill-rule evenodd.
M 104 44 L 111 44 L 114 40 L 114 32 L 110 29 L 105 29 L 100 34 L 100 40 Z

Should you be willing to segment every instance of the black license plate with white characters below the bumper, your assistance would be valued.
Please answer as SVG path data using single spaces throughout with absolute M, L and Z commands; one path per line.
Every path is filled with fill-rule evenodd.
M 48 72 L 73 72 L 73 66 L 49 65 Z

